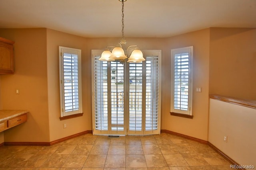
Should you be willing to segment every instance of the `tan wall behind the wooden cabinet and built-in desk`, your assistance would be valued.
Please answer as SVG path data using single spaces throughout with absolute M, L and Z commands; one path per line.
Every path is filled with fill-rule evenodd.
M 26 123 L 4 131 L 4 141 L 47 142 L 46 29 L 0 29 L 0 37 L 15 41 L 15 73 L 0 76 L 2 109 L 29 111 Z

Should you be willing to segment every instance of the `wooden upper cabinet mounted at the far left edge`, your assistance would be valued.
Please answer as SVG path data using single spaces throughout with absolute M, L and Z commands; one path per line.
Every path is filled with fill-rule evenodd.
M 0 37 L 0 74 L 14 72 L 13 44 L 14 41 Z

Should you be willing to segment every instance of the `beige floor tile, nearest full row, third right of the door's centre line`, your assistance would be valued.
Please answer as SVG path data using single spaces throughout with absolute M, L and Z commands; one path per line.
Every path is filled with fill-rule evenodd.
M 163 154 L 166 163 L 169 167 L 172 166 L 188 166 L 186 160 L 182 157 L 181 154 Z

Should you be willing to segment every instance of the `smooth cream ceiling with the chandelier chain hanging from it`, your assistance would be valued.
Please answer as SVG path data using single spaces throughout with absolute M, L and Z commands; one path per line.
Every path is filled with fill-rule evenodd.
M 0 28 L 46 27 L 122 37 L 119 0 L 0 0 Z M 208 27 L 256 28 L 256 0 L 127 0 L 125 37 L 171 37 Z

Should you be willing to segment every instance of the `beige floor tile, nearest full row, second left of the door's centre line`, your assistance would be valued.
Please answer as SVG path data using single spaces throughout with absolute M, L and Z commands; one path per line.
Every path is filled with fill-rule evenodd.
M 104 168 L 107 155 L 103 154 L 89 154 L 83 168 Z

